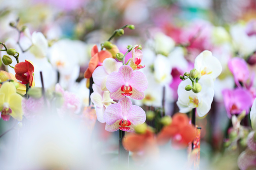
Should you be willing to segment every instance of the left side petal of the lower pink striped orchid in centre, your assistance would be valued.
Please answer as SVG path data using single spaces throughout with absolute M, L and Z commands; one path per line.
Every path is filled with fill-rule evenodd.
M 119 119 L 123 119 L 122 106 L 120 104 L 112 104 L 106 108 L 104 120 L 108 125 L 114 124 Z

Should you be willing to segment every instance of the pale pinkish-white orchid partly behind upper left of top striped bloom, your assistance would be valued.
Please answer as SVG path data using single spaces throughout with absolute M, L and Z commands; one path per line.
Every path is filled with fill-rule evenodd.
M 113 58 L 106 58 L 102 66 L 98 66 L 92 73 L 93 82 L 97 84 L 103 91 L 107 91 L 106 81 L 110 73 L 118 71 L 122 66 L 121 62 L 117 62 Z

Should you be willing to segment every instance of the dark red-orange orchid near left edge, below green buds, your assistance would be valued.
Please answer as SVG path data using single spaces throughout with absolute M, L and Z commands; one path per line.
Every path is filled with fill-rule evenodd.
M 31 61 L 25 60 L 25 62 L 20 62 L 14 67 L 15 77 L 22 81 L 22 84 L 29 83 L 29 86 L 34 86 L 34 65 Z

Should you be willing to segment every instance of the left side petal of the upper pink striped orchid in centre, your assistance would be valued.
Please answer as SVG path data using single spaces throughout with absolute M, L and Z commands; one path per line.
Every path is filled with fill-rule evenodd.
M 120 72 L 112 72 L 106 82 L 106 87 L 110 92 L 116 92 L 121 86 L 125 84 L 123 75 Z

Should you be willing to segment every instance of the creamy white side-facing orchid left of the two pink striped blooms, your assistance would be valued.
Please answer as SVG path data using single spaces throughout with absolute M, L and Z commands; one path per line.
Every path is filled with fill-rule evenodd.
M 90 98 L 92 103 L 96 106 L 96 115 L 100 123 L 105 123 L 104 112 L 108 106 L 113 103 L 113 99 L 110 98 L 109 91 L 101 91 L 100 87 L 96 84 L 92 84 L 93 93 Z

